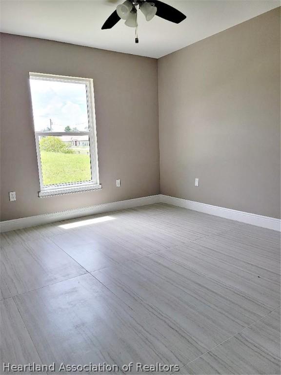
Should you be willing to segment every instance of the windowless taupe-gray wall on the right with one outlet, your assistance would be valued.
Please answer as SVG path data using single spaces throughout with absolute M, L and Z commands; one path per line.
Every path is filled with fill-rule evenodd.
M 161 58 L 158 74 L 161 193 L 280 218 L 280 8 Z

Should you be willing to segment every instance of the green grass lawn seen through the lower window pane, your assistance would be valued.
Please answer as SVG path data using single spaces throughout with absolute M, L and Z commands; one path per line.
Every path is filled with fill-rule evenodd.
M 91 180 L 89 155 L 41 151 L 44 185 Z

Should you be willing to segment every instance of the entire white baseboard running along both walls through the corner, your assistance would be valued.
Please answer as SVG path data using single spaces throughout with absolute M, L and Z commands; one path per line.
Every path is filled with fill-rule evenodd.
M 223 208 L 208 205 L 206 203 L 188 201 L 186 199 L 170 197 L 168 195 L 151 195 L 148 197 L 128 199 L 125 201 L 104 203 L 101 205 L 85 208 L 75 208 L 67 211 L 46 213 L 37 216 L 23 217 L 20 219 L 0 222 L 0 232 L 7 232 L 15 229 L 34 227 L 42 224 L 54 223 L 56 221 L 73 219 L 76 217 L 94 215 L 109 211 L 118 211 L 124 208 L 133 208 L 153 203 L 167 203 L 169 205 L 192 209 L 194 211 L 208 213 L 210 215 L 221 216 L 226 219 L 237 220 L 242 223 L 257 225 L 259 227 L 281 231 L 281 220 L 273 217 L 257 215 L 255 213 L 237 211 L 235 209 Z

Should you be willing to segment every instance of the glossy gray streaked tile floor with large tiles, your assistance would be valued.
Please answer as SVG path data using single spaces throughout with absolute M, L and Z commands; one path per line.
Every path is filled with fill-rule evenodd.
M 2 233 L 0 251 L 0 374 L 280 374 L 279 232 L 156 204 Z

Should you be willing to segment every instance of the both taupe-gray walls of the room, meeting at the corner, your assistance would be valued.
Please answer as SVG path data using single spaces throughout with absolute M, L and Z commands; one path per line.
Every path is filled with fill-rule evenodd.
M 160 191 L 280 217 L 280 8 L 161 58 L 158 78 L 149 58 L 8 34 L 0 48 L 1 220 Z M 101 190 L 38 197 L 29 71 L 93 78 Z

